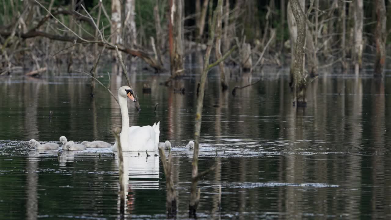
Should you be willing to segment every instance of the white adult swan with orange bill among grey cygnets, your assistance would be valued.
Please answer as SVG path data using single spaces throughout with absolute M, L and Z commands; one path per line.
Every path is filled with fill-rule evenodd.
M 122 151 L 156 151 L 159 145 L 160 122 L 153 126 L 131 126 L 129 127 L 129 115 L 127 112 L 127 100 L 136 101 L 133 97 L 133 90 L 128 86 L 118 89 L 118 103 L 120 104 L 122 117 L 122 130 L 120 140 Z M 117 141 L 113 146 L 113 151 L 117 151 Z

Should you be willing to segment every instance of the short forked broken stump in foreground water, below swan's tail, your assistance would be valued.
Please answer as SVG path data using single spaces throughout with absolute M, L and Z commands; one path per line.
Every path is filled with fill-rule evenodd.
M 172 154 L 171 150 L 169 152 L 168 161 L 166 160 L 166 155 L 164 153 L 163 148 L 159 148 L 161 163 L 163 164 L 163 171 L 166 177 L 166 190 L 167 190 L 167 198 L 166 198 L 166 206 L 167 206 L 167 217 L 172 218 L 176 216 L 176 192 L 174 188 L 174 182 L 172 181 Z

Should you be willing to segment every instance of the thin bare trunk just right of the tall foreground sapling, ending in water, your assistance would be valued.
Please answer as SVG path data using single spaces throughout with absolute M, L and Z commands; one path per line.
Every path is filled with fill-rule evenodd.
M 222 35 L 222 12 L 223 12 L 222 4 L 219 5 L 219 7 L 216 8 L 216 45 L 215 45 L 215 54 L 217 59 L 221 59 L 221 35 Z M 220 69 L 220 84 L 222 90 L 227 90 L 228 85 L 225 81 L 225 73 L 224 73 L 224 62 L 219 63 L 219 69 Z

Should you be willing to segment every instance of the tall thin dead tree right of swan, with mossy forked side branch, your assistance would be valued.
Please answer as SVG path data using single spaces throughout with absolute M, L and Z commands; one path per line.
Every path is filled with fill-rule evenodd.
M 197 97 L 197 110 L 195 113 L 195 123 L 194 123 L 194 153 L 193 153 L 193 169 L 192 169 L 192 182 L 190 188 L 190 202 L 189 202 L 189 217 L 195 217 L 195 213 L 197 211 L 197 206 L 199 202 L 199 193 L 197 194 L 197 182 L 200 177 L 198 175 L 198 147 L 199 147 L 199 137 L 201 132 L 201 115 L 203 109 L 204 102 L 204 92 L 205 92 L 205 82 L 206 77 L 208 75 L 208 71 L 218 65 L 220 62 L 224 61 L 229 54 L 235 49 L 233 47 L 230 49 L 224 56 L 215 61 L 214 63 L 209 63 L 210 52 L 212 51 L 213 43 L 215 42 L 215 28 L 216 28 L 216 17 L 217 17 L 217 9 L 221 8 L 222 0 L 219 0 L 217 3 L 217 9 L 213 13 L 212 20 L 212 7 L 213 2 L 209 3 L 209 36 L 208 43 L 206 46 L 205 58 L 204 58 L 204 66 L 203 72 L 201 74 L 200 84 L 199 84 L 199 96 Z

